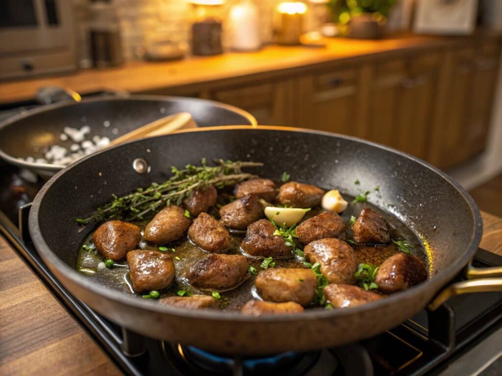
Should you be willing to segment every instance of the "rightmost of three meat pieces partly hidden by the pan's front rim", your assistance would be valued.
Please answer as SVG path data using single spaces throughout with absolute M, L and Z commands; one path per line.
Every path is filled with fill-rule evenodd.
M 335 308 L 357 307 L 375 300 L 382 296 L 374 292 L 366 291 L 354 285 L 332 283 L 324 287 L 324 297 Z

